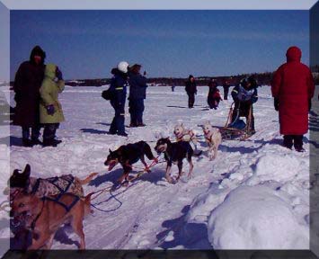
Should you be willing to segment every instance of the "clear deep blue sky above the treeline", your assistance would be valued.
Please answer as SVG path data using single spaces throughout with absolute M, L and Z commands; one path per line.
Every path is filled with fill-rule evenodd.
M 37 44 L 66 79 L 110 77 L 120 60 L 150 77 L 272 71 L 291 45 L 308 64 L 308 20 L 308 11 L 11 11 L 10 75 Z

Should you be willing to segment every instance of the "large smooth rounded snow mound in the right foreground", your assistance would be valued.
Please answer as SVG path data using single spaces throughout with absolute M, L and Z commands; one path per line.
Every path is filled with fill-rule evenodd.
M 208 219 L 214 249 L 308 249 L 307 228 L 269 187 L 241 186 Z

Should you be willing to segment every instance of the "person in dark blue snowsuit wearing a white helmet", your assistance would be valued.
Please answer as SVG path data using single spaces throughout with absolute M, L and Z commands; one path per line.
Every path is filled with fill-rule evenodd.
M 128 62 L 121 61 L 117 68 L 113 68 L 111 73 L 114 75 L 111 78 L 110 89 L 112 92 L 111 106 L 114 108 L 115 115 L 111 122 L 109 134 L 118 134 L 127 137 L 125 132 L 125 101 L 127 97 L 128 86 Z

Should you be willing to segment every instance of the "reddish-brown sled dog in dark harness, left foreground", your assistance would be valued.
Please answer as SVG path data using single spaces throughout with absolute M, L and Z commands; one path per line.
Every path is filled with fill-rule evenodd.
M 58 228 L 65 223 L 70 223 L 75 234 L 80 237 L 79 248 L 85 249 L 83 219 L 91 212 L 92 194 L 81 200 L 74 194 L 65 193 L 55 201 L 20 192 L 12 202 L 12 211 L 13 217 L 22 217 L 25 228 L 31 230 L 32 241 L 28 250 L 50 249 Z

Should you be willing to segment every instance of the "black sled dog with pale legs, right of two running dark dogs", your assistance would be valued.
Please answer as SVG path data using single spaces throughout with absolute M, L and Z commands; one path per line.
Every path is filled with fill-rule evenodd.
M 178 141 L 172 143 L 169 138 L 160 138 L 156 142 L 155 151 L 158 154 L 164 153 L 164 158 L 167 162 L 165 178 L 168 183 L 173 183 L 173 178 L 171 177 L 172 164 L 178 166 L 178 176 L 176 181 L 178 181 L 182 175 L 182 160 L 187 159 L 190 164 L 190 172 L 188 174 L 189 179 L 191 178 L 194 165 L 191 162 L 191 156 L 193 155 L 193 149 L 191 144 L 187 141 Z

